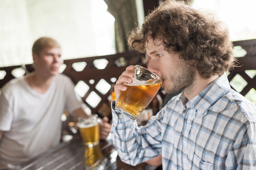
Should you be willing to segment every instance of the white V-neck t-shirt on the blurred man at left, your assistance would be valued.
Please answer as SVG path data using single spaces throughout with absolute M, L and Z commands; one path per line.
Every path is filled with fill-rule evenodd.
M 0 94 L 0 167 L 18 165 L 60 143 L 61 115 L 82 107 L 74 83 L 63 74 L 54 76 L 45 94 L 32 89 L 24 78 L 9 81 Z

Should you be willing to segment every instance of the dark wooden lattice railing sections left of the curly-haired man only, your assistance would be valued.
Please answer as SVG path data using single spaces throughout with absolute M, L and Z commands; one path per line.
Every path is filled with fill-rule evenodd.
M 141 64 L 141 54 L 125 52 L 113 55 L 65 60 L 63 74 L 76 85 L 76 92 L 83 98 L 92 113 L 99 113 L 108 105 L 111 85 L 128 65 Z M 62 68 L 63 68 L 62 67 Z M 0 88 L 12 78 L 32 72 L 31 64 L 0 68 Z M 18 72 L 18 74 L 17 74 Z

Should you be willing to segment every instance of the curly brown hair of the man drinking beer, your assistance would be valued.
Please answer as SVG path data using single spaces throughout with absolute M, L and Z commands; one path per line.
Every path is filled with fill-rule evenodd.
M 203 78 L 221 75 L 235 65 L 233 44 L 224 24 L 182 1 L 164 1 L 146 16 L 141 29 L 128 33 L 128 44 L 146 53 L 148 37 L 162 39 L 166 51 L 179 52 L 181 59 L 193 61 Z

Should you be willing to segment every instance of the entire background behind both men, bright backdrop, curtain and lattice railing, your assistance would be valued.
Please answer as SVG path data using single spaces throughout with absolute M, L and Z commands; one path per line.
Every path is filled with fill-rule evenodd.
M 130 57 L 127 33 L 132 28 L 141 26 L 148 12 L 162 1 L 0 0 L 0 88 L 13 76 L 21 77 L 27 72 L 24 65 L 33 62 L 31 47 L 34 41 L 39 37 L 49 36 L 62 46 L 62 57 L 66 62 L 61 66 L 60 73 L 64 71 L 64 74 L 72 78 L 76 84 L 75 91 L 90 106 L 88 113 L 98 110 L 111 93 L 112 85 L 119 75 L 117 69 L 120 71 L 120 67 L 129 63 L 128 60 L 132 64 L 135 60 L 140 62 L 140 56 L 137 56 L 139 54 L 132 54 L 135 60 Z M 256 0 L 184 1 L 189 1 L 195 9 L 210 13 L 217 20 L 223 21 L 229 28 L 230 41 L 246 40 L 247 45 L 238 43 L 234 46 L 234 56 L 246 56 L 245 60 L 254 60 Z M 122 55 L 125 52 L 127 56 L 124 58 Z M 115 59 L 110 56 L 100 57 L 112 54 Z M 89 60 L 85 61 L 85 58 Z M 67 65 L 69 59 L 79 61 L 68 62 Z M 66 69 L 71 65 L 76 72 Z M 90 65 L 101 70 L 97 78 L 95 75 L 85 77 Z M 104 70 L 107 65 L 111 65 L 111 70 Z M 12 66 L 13 68 L 9 68 Z M 243 72 L 236 68 L 235 71 L 239 73 L 227 73 L 230 85 L 256 104 L 256 88 L 253 83 L 256 70 L 248 65 L 243 68 Z

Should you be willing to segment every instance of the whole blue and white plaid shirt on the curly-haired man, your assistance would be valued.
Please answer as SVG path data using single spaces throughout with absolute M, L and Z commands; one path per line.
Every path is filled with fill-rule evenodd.
M 114 107 L 112 140 L 128 164 L 162 155 L 164 170 L 256 170 L 256 106 L 225 74 L 189 101 L 172 98 L 145 126 Z

